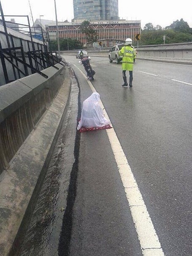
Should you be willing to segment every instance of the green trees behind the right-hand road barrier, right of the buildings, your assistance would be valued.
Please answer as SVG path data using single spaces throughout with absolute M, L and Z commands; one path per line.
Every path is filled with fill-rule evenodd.
M 141 31 L 141 45 L 186 43 L 192 41 L 192 28 L 183 19 L 176 20 L 170 26 L 162 29 L 160 25 L 156 27 L 152 23 L 147 23 Z

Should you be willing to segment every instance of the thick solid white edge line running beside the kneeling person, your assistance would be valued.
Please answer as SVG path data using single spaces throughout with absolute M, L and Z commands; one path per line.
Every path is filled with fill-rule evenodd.
M 86 75 L 77 66 L 76 68 L 87 79 Z M 97 92 L 89 80 L 87 80 L 87 83 L 89 84 L 92 92 Z M 100 102 L 100 104 L 104 109 L 103 103 Z M 103 112 L 105 117 L 110 120 L 105 109 L 103 110 Z M 127 162 L 127 158 L 125 157 L 119 139 L 116 136 L 116 132 L 114 128 L 106 129 L 106 132 L 111 143 L 111 148 L 114 153 L 119 174 L 122 179 L 124 191 L 127 196 L 131 215 L 133 217 L 135 228 L 138 234 L 138 239 L 140 241 L 142 253 L 144 256 L 165 256 L 161 248 L 159 238 L 157 237 L 153 223 L 147 211 L 146 205 L 143 201 L 143 197 L 138 188 L 137 182 L 133 176 L 129 163 Z

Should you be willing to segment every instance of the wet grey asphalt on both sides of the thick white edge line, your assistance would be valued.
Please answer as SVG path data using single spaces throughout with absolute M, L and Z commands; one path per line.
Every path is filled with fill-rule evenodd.
M 67 56 L 66 60 L 84 72 L 82 65 L 78 65 L 75 57 Z M 108 63 L 107 58 L 99 57 L 92 57 L 91 64 L 96 71 L 92 84 L 100 94 L 105 110 L 111 119 L 165 255 L 191 256 L 192 66 L 136 61 L 133 71 L 133 88 L 130 89 L 121 87 L 123 82 L 121 65 Z M 76 71 L 76 68 L 74 70 Z M 78 71 L 76 73 L 78 74 Z M 81 74 L 78 77 L 81 77 Z M 81 102 L 83 102 L 91 94 L 91 91 L 83 80 L 81 83 Z M 130 216 L 126 216 L 127 221 L 123 221 L 125 220 L 124 215 L 128 214 L 126 210 L 122 211 L 126 207 L 123 195 L 119 195 L 121 204 L 124 203 L 123 206 L 116 205 L 119 200 L 113 193 L 116 191 L 116 186 L 119 187 L 118 193 L 122 192 L 122 189 L 119 179 L 114 177 L 115 170 L 113 168 L 116 168 L 116 164 L 108 156 L 111 155 L 108 142 L 100 136 L 95 134 L 81 136 L 78 171 L 82 173 L 79 174 L 82 176 L 80 176 L 81 185 L 79 185 L 79 195 L 77 193 L 78 199 L 75 203 L 74 237 L 72 236 L 70 255 L 140 255 L 136 249 L 137 245 L 133 242 L 131 244 L 135 250 L 132 253 L 129 251 L 130 245 L 127 243 L 126 247 L 126 242 L 124 244 L 124 240 L 129 241 L 130 238 L 126 226 L 129 223 L 129 228 L 131 228 Z M 99 140 L 101 141 L 97 145 L 96 141 L 98 143 Z M 95 145 L 97 145 L 97 149 L 95 149 Z M 86 167 L 90 161 L 91 164 Z M 105 171 L 105 179 L 103 171 Z M 92 182 L 97 180 L 97 175 L 100 177 L 98 178 L 99 183 L 106 182 L 104 187 L 107 192 L 103 192 L 102 195 L 111 194 L 111 201 L 107 197 L 106 201 L 101 204 L 104 207 L 108 206 L 107 202 L 110 202 L 111 211 L 113 211 L 111 215 L 116 218 L 115 221 L 118 219 L 121 223 L 116 222 L 119 236 L 115 235 L 111 240 L 110 235 L 108 239 L 105 239 L 105 236 L 113 234 L 115 228 L 111 228 L 109 233 L 108 228 L 104 228 L 106 234 L 100 236 L 101 233 L 97 230 L 97 225 L 92 225 L 95 217 L 89 223 L 91 209 L 93 209 L 95 201 L 100 201 L 102 196 L 97 195 L 99 192 L 92 191 L 93 183 L 89 189 L 86 184 L 90 180 Z M 91 177 L 94 178 L 91 179 Z M 111 179 L 114 179 L 112 184 Z M 97 187 L 97 185 L 94 184 L 94 189 L 95 186 Z M 99 189 L 100 186 L 96 191 Z M 88 199 L 90 191 L 92 191 L 92 196 Z M 96 198 L 95 195 L 97 195 Z M 84 209 L 83 213 L 82 208 Z M 108 206 L 107 209 L 110 207 Z M 114 209 L 116 209 L 115 214 Z M 119 212 L 117 213 L 117 211 Z M 111 215 L 108 215 L 108 221 L 113 220 Z M 97 218 L 99 217 L 97 216 Z M 98 223 L 97 218 L 96 222 Z M 94 231 L 89 230 L 92 226 L 94 226 Z M 110 225 L 108 224 L 108 226 Z M 98 236 L 95 235 L 95 227 Z M 82 229 L 82 232 L 79 231 Z M 83 239 L 80 238 L 81 250 L 75 242 L 78 233 L 78 237 L 83 237 Z M 132 234 L 134 237 L 134 232 Z M 95 237 L 97 237 L 97 241 L 103 238 L 105 240 L 103 243 L 95 244 L 97 252 L 94 252 L 92 248 L 94 246 L 90 246 L 90 244 L 94 244 Z M 118 243 L 119 237 L 122 239 L 121 243 Z M 126 248 L 122 250 L 122 253 L 121 246 Z M 116 248 L 118 249 L 116 250 Z M 90 251 L 86 254 L 88 249 Z

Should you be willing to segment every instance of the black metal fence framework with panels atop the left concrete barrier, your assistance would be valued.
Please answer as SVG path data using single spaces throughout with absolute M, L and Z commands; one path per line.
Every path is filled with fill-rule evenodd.
M 4 15 L 1 3 L 0 12 L 3 23 L 3 25 L 0 25 L 2 28 L 0 29 L 0 86 L 34 73 L 39 73 L 48 78 L 41 72 L 43 69 L 54 66 L 56 63 L 65 64 L 57 56 L 57 52 L 47 50 L 46 42 L 49 40 L 49 35 L 46 34 L 45 36 L 42 28 L 41 33 L 39 33 L 35 31 L 35 27 L 30 27 L 28 16 L 19 16 L 27 19 L 27 25 L 16 23 L 22 26 L 19 28 L 26 28 L 26 30 L 22 30 L 25 33 L 21 33 L 19 29 L 14 28 L 12 30 L 6 26 L 7 22 L 13 22 L 6 21 L 5 17 L 18 17 L 18 15 Z M 41 34 L 42 41 L 33 37 L 37 34 Z M 58 69 L 55 66 L 54 68 Z

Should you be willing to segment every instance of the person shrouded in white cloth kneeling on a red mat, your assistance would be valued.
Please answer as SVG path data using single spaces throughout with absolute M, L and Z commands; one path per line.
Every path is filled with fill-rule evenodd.
M 77 129 L 81 127 L 103 127 L 110 124 L 104 114 L 102 107 L 99 105 L 100 95 L 97 92 L 92 93 L 89 98 L 85 99 L 82 105 L 81 120 L 78 123 Z

